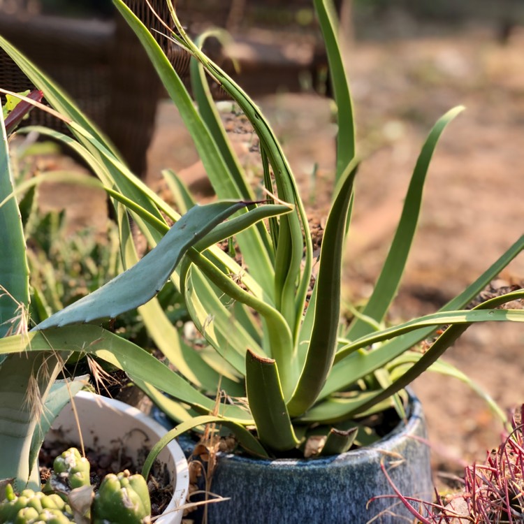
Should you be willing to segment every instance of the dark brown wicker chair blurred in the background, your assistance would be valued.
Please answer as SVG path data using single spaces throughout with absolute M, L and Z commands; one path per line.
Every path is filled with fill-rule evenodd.
M 166 31 L 152 15 L 145 0 L 125 1 L 140 20 L 152 28 L 152 34 L 177 72 L 187 80 L 187 53 L 157 32 Z M 293 13 L 293 10 L 305 4 L 306 0 L 290 0 L 285 8 Z M 310 0 L 307 0 L 309 4 Z M 162 20 L 170 20 L 165 0 L 152 0 L 152 5 Z M 194 3 L 191 6 L 191 0 L 177 1 L 180 19 L 184 23 L 191 20 L 190 29 L 194 28 L 195 31 L 201 29 L 205 20 L 237 29 L 240 19 L 249 22 L 257 16 L 260 19 L 260 13 L 266 13 L 268 8 L 282 10 L 283 7 L 276 0 L 202 0 L 198 8 L 194 7 Z M 292 16 L 281 18 L 293 20 Z M 307 30 L 311 32 L 311 28 Z M 133 173 L 145 175 L 147 147 L 154 131 L 157 103 L 163 92 L 145 51 L 122 17 L 75 20 L 23 13 L 2 15 L 0 12 L 0 34 L 66 89 L 80 108 L 105 131 Z M 211 52 L 219 54 L 214 49 Z M 322 64 L 325 64 L 323 52 L 315 53 L 311 64 L 306 67 L 304 64 L 275 60 L 270 67 L 280 70 L 270 75 L 261 74 L 268 64 L 258 64 L 256 71 L 253 64 L 246 64 L 238 80 L 255 94 L 274 92 L 277 85 L 275 81 L 270 82 L 271 78 L 280 82 L 286 79 L 286 89 L 296 90 L 300 89 L 300 70 L 310 68 L 316 71 Z M 225 68 L 234 73 L 231 64 L 226 62 Z M 0 86 L 17 92 L 32 87 L 7 54 L 1 51 Z M 224 95 L 220 89 L 214 89 L 213 92 L 217 98 Z M 60 126 L 41 111 L 31 112 L 31 123 L 47 124 L 55 129 Z

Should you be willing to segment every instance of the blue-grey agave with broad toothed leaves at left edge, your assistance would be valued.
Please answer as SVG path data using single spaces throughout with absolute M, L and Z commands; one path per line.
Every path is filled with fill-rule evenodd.
M 26 101 L 31 103 L 30 99 Z M 71 125 L 76 124 L 71 123 Z M 87 127 L 86 122 L 83 122 L 83 125 Z M 80 126 L 78 127 L 80 129 Z M 170 372 L 166 366 L 161 365 L 143 349 L 108 331 L 97 328 L 96 334 L 93 332 L 86 337 L 85 333 L 82 334 L 82 328 L 89 330 L 90 326 L 80 326 L 74 333 L 61 328 L 54 329 L 52 333 L 42 330 L 47 326 L 61 326 L 75 322 L 87 323 L 104 317 L 112 318 L 152 299 L 156 300 L 154 297 L 170 279 L 170 275 L 183 256 L 198 242 L 206 245 L 209 242 L 221 240 L 224 235 L 227 237 L 232 232 L 238 231 L 239 226 L 244 228 L 246 223 L 252 223 L 265 216 L 288 212 L 289 207 L 284 205 L 263 206 L 249 211 L 240 222 L 232 219 L 221 224 L 224 219 L 238 210 L 247 206 L 251 207 L 251 203 L 224 201 L 207 206 L 197 206 L 189 210 L 183 217 L 174 211 L 170 212 L 164 206 L 163 210 L 167 211 L 170 218 L 175 221 L 170 228 L 165 219 L 160 220 L 162 215 L 158 208 L 155 208 L 158 218 L 152 217 L 151 213 L 147 217 L 154 221 L 157 228 L 160 227 L 159 224 L 161 225 L 161 231 L 164 234 L 158 245 L 138 261 L 136 252 L 133 252 L 132 249 L 133 245 L 131 243 L 124 245 L 122 242 L 124 263 L 131 266 L 128 270 L 117 275 L 108 284 L 89 296 L 60 310 L 48 319 L 44 319 L 34 328 L 34 333 L 30 333 L 27 311 L 31 293 L 26 239 L 15 198 L 3 119 L 0 122 L 0 131 L 3 136 L 0 150 L 0 226 L 5 232 L 1 235 L 0 240 L 0 249 L 3 254 L 0 261 L 0 345 L 2 347 L 0 354 L 3 356 L 0 364 L 0 436 L 2 442 L 0 479 L 13 481 L 13 486 L 18 491 L 24 488 L 38 490 L 40 482 L 36 457 L 45 431 L 71 395 L 74 395 L 75 391 L 85 384 L 86 377 L 78 377 L 74 384 L 70 381 L 57 380 L 64 361 L 71 352 L 82 353 L 87 349 L 86 346 L 89 346 L 96 348 L 95 352 L 109 350 L 112 356 L 119 353 L 122 358 L 122 363 L 117 364 L 119 367 L 122 367 L 126 360 L 133 360 L 133 354 L 135 354 L 135 358 L 138 358 L 136 365 L 140 369 L 147 369 L 147 361 L 152 361 L 154 367 L 155 365 L 161 367 L 161 374 L 165 376 L 165 372 L 168 372 L 172 376 L 170 380 L 173 388 L 180 390 L 176 386 L 180 383 L 180 377 Z M 89 134 L 89 131 L 85 131 L 84 128 L 82 132 Z M 115 182 L 108 170 L 104 169 L 103 165 L 96 160 L 94 154 L 82 147 L 80 143 L 70 138 L 62 138 L 68 140 L 72 147 L 77 147 L 108 184 L 108 187 L 105 187 L 102 182 L 99 182 L 99 186 L 105 187 L 108 193 L 114 194 L 116 191 L 111 187 L 115 186 Z M 89 134 L 89 140 L 95 143 L 92 151 L 94 153 L 103 152 L 108 162 L 112 163 L 114 173 L 120 175 L 124 173 L 132 180 L 132 175 L 124 168 L 118 157 L 102 145 L 103 138 L 100 137 L 99 141 Z M 140 202 L 140 195 L 145 200 L 145 191 L 149 190 L 143 186 L 138 187 L 135 194 L 129 194 L 129 197 L 135 199 L 135 207 L 136 202 Z M 153 204 L 150 205 L 150 208 L 152 207 Z M 143 208 L 140 210 L 143 214 L 147 213 Z M 129 235 L 131 231 L 129 219 L 124 212 L 120 212 L 119 227 L 122 234 L 127 232 Z M 131 235 L 127 238 L 131 238 Z M 133 265 L 129 262 L 130 260 Z M 59 339 L 55 338 L 56 336 Z M 38 347 L 38 343 L 35 346 L 34 342 L 31 342 L 33 337 L 35 337 L 35 342 L 39 340 L 43 343 L 43 346 L 40 346 L 35 353 L 30 352 Z M 105 360 L 107 361 L 108 358 Z M 146 376 L 149 378 L 149 375 Z M 203 398 L 204 405 L 207 401 L 208 399 Z

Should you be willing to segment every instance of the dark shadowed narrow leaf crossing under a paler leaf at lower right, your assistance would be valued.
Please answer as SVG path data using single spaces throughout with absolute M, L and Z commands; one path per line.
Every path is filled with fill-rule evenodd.
M 516 300 L 516 298 L 522 298 L 524 296 L 524 292 L 513 292 L 513 293 L 507 293 L 505 295 L 497 296 L 495 298 L 491 298 L 490 300 L 486 300 L 486 302 L 474 307 L 474 310 L 488 310 L 492 307 L 498 307 L 504 303 L 511 302 L 511 300 Z M 495 316 L 495 313 L 501 310 L 495 310 L 493 312 L 490 312 L 490 316 L 493 318 Z M 517 322 L 524 322 L 524 310 L 502 310 L 504 312 L 507 312 L 507 320 L 508 321 L 517 321 Z M 375 395 L 374 398 L 371 400 L 368 400 L 367 402 L 364 402 L 363 405 L 358 407 L 358 411 L 364 411 L 365 409 L 369 409 L 372 407 L 374 402 L 380 402 L 381 400 L 384 400 L 384 398 L 388 398 L 389 396 L 393 395 L 393 393 L 396 393 L 402 388 L 405 388 L 408 384 L 411 384 L 416 377 L 419 377 L 419 374 L 421 374 L 424 370 L 426 370 L 432 363 L 435 363 L 437 359 L 444 354 L 444 351 L 448 349 L 452 344 L 456 342 L 458 337 L 462 335 L 467 328 L 471 326 L 471 323 L 465 323 L 465 324 L 453 324 L 452 326 L 449 326 L 442 335 L 440 335 L 437 340 L 432 344 L 430 349 L 423 354 L 421 359 L 415 363 L 412 367 L 405 372 L 405 374 L 402 375 L 399 379 L 395 380 L 391 386 L 384 389 L 381 393 L 378 395 Z

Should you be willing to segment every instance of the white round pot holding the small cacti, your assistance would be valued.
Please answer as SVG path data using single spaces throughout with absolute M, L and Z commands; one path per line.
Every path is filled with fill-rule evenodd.
M 119 400 L 80 391 L 74 402 L 86 447 L 110 451 L 124 444 L 128 456 L 140 463 L 144 458 L 138 456 L 140 450 L 150 449 L 166 434 L 166 429 L 151 417 Z M 48 433 L 48 438 L 58 436 L 79 443 L 71 403 L 64 407 Z M 180 524 L 182 511 L 177 508 L 184 504 L 189 488 L 187 460 L 174 440 L 161 451 L 158 460 L 166 465 L 173 482 L 173 499 L 155 524 Z

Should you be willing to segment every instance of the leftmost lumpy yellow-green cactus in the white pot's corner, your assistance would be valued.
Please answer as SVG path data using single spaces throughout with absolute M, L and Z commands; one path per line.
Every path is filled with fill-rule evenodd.
M 23 490 L 15 495 L 6 487 L 6 499 L 0 503 L 1 524 L 73 524 L 71 507 L 59 495 Z

